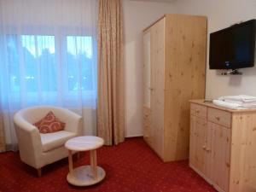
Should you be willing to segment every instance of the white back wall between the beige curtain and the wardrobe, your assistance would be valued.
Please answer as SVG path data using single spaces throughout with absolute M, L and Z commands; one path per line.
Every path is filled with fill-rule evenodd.
M 125 32 L 125 136 L 143 135 L 143 35 L 172 3 L 123 1 Z

